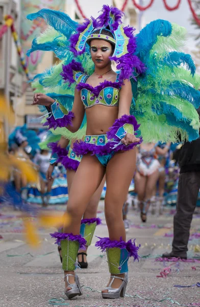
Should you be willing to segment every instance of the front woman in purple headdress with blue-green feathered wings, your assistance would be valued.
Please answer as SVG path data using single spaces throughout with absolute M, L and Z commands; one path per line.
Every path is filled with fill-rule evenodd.
M 131 256 L 138 259 L 139 247 L 131 240 L 126 242 L 121 214 L 135 169 L 134 147 L 142 141 L 135 136 L 139 125 L 132 114 L 141 123 L 145 142 L 174 142 L 178 133 L 182 139 L 198 137 L 195 107 L 200 93 L 193 84 L 198 88 L 199 80 L 191 57 L 172 51 L 180 49 L 185 30 L 159 19 L 134 37 L 133 29 L 122 25 L 122 15 L 117 8 L 104 5 L 97 19 L 80 26 L 62 12 L 44 9 L 29 15 L 32 20 L 45 18 L 56 30 L 55 39 L 46 37 L 43 43 L 34 40 L 31 51 L 45 49 L 54 50 L 60 57 L 62 54 L 66 59 L 62 77 L 69 90 L 74 89 L 72 108 L 69 96 L 62 100 L 63 105 L 61 100 L 40 93 L 35 94 L 33 104 L 47 107 L 46 124 L 50 128 L 66 127 L 73 133 L 80 128 L 85 113 L 87 118 L 85 140 L 73 145 L 83 158 L 70 188 L 67 212 L 71 224 L 64 225 L 63 233 L 52 234 L 57 243 L 61 242 L 68 298 L 82 295 L 74 273 L 78 250 L 85 245 L 79 234 L 81 218 L 105 173 L 109 238 L 96 242 L 107 251 L 111 273 L 108 287 L 102 291 L 104 298 L 125 295 L 128 260 Z M 93 71 L 87 74 L 83 66 L 87 70 L 91 60 Z M 111 68 L 111 60 L 117 63 L 117 73 Z M 58 86 L 63 84 L 66 86 L 59 80 Z

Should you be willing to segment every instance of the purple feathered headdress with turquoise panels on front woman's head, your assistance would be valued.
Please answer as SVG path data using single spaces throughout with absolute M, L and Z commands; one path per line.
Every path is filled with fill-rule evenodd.
M 70 50 L 78 56 L 86 51 L 87 43 L 91 39 L 104 39 L 115 45 L 110 59 L 117 63 L 120 81 L 134 77 L 134 69 L 137 74 L 144 72 L 144 64 L 134 55 L 137 47 L 133 35 L 135 29 L 123 27 L 123 13 L 119 9 L 104 5 L 101 12 L 97 19 L 86 19 L 85 23 L 77 28 L 78 33 L 70 38 Z M 102 29 L 110 31 L 111 35 L 102 34 Z

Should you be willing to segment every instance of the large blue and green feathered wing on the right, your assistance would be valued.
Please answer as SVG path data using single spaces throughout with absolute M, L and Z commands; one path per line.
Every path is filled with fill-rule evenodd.
M 131 107 L 145 142 L 192 141 L 199 136 L 200 77 L 181 48 L 186 30 L 155 20 L 137 34 L 136 55 L 146 66 L 138 76 L 138 93 Z

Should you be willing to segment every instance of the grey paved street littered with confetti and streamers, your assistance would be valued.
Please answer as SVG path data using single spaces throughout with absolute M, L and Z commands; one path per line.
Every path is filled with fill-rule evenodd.
M 64 206 L 58 206 L 58 210 Z M 0 215 L 0 284 L 3 307 L 47 307 L 66 306 L 200 306 L 200 288 L 176 288 L 174 285 L 191 286 L 200 282 L 200 211 L 192 222 L 191 240 L 188 257 L 195 262 L 156 261 L 164 251 L 170 251 L 172 241 L 173 208 L 165 210 L 160 217 L 148 216 L 146 224 L 140 223 L 139 214 L 130 208 L 129 219 L 132 227 L 127 239 L 136 238 L 140 261 L 129 261 L 129 283 L 125 298 L 102 299 L 99 293 L 109 279 L 106 255 L 95 247 L 95 240 L 89 248 L 89 268 L 78 269 L 83 296 L 67 300 L 64 295 L 63 272 L 54 240 L 48 235 L 54 229 L 39 230 L 41 246 L 30 248 L 24 242 L 21 221 L 16 212 L 4 211 Z M 99 203 L 98 217 L 103 225 L 96 228 L 97 236 L 107 236 L 107 227 L 103 214 L 103 202 Z M 165 235 L 166 234 L 166 235 Z M 197 238 L 198 237 L 198 238 Z M 199 260 L 198 260 L 199 259 Z M 157 277 L 164 268 L 171 266 L 167 277 Z M 192 269 L 193 267 L 193 269 Z M 162 274 L 161 274 L 162 275 Z

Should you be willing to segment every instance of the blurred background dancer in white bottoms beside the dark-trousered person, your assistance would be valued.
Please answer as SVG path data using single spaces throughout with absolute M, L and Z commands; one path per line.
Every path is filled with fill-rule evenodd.
M 146 222 L 148 208 L 151 202 L 155 201 L 154 193 L 159 179 L 160 168 L 158 155 L 164 156 L 168 150 L 169 145 L 166 145 L 165 148 L 160 148 L 154 143 L 142 143 L 138 148 L 135 186 L 142 222 Z

